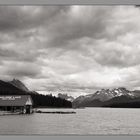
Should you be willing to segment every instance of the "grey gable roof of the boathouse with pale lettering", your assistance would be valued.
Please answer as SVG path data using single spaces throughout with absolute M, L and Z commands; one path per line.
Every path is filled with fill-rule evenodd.
M 30 95 L 2 95 L 0 96 L 0 106 L 24 106 L 33 105 Z

